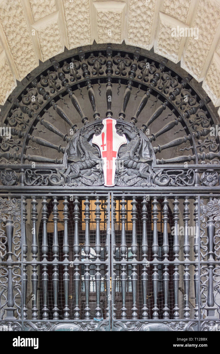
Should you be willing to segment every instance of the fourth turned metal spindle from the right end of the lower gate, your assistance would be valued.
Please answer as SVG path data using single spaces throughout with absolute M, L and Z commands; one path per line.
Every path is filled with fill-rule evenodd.
M 167 197 L 164 197 L 163 200 L 163 295 L 164 295 L 164 307 L 163 307 L 163 318 L 169 319 L 169 308 L 168 308 L 168 293 L 169 293 L 169 269 L 168 269 L 168 253 L 169 253 L 169 242 L 168 242 L 168 232 L 167 232 L 167 223 L 168 223 L 168 200 Z

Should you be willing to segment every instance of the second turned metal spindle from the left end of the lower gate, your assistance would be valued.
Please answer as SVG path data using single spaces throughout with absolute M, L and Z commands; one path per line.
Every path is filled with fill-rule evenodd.
M 31 210 L 31 221 L 32 221 L 32 244 L 31 244 L 31 252 L 32 252 L 32 274 L 31 274 L 31 282 L 32 282 L 32 319 L 37 318 L 37 285 L 38 285 L 38 274 L 37 274 L 37 229 L 36 229 L 36 222 L 37 222 L 37 201 L 35 197 L 32 197 L 32 210 Z

